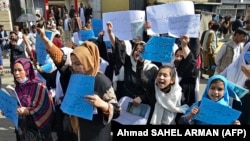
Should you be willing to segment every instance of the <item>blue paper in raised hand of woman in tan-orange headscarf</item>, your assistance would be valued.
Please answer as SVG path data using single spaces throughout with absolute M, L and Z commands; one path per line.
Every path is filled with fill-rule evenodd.
M 51 31 L 45 31 L 45 35 L 49 39 L 52 38 Z M 39 35 L 36 35 L 36 58 L 39 64 L 45 64 L 47 54 L 44 42 Z

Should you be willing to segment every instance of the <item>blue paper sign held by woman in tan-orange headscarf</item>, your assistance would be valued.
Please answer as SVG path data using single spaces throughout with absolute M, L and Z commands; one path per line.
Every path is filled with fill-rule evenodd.
M 85 96 L 94 94 L 94 82 L 93 76 L 72 74 L 60 107 L 62 111 L 69 115 L 92 120 L 94 107 L 85 100 Z

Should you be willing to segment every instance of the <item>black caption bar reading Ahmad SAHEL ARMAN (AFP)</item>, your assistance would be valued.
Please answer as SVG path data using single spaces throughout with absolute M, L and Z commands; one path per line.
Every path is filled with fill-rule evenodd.
M 113 141 L 120 141 L 123 138 L 145 138 L 166 139 L 172 138 L 214 138 L 218 140 L 237 139 L 249 140 L 250 127 L 243 125 L 161 125 L 161 126 L 138 126 L 138 125 L 120 125 L 112 126 Z M 159 140 L 157 140 L 159 141 Z M 215 141 L 215 140 L 213 140 Z

